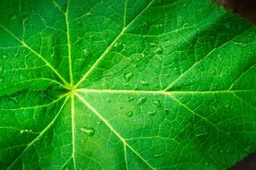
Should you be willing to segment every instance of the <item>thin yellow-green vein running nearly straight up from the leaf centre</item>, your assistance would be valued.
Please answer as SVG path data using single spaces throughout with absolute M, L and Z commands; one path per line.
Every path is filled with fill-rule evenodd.
M 69 0 L 66 4 L 66 42 L 67 42 L 67 55 L 68 55 L 68 64 L 69 64 L 69 76 L 70 76 L 70 84 L 73 86 L 73 73 L 72 73 L 72 59 L 71 59 L 71 43 L 70 43 L 70 30 L 69 30 L 69 21 L 68 21 L 68 7 L 69 7 Z

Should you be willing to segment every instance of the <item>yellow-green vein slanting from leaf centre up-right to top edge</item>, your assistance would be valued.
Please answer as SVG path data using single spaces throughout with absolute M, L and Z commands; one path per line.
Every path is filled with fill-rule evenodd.
M 123 27 L 123 29 L 119 32 L 119 35 L 110 43 L 110 46 L 106 48 L 106 50 L 102 53 L 102 55 L 98 58 L 98 60 L 93 64 L 93 66 L 84 74 L 82 79 L 78 81 L 75 85 L 75 88 L 77 88 L 87 77 L 90 75 L 90 73 L 93 72 L 93 70 L 102 62 L 102 59 L 110 52 L 110 49 L 114 46 L 114 44 L 119 40 L 119 38 L 124 34 L 125 30 L 134 22 L 137 20 L 137 18 L 141 15 L 141 13 L 144 13 L 149 6 L 153 3 L 152 0 L 149 4 L 147 4 L 146 8 L 142 10 L 140 13 L 137 14 L 137 16 L 128 23 L 126 27 Z

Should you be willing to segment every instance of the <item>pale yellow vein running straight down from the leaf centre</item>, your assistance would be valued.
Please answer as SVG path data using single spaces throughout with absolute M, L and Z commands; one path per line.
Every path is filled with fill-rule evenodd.
M 74 94 L 71 96 L 71 116 L 72 116 L 72 157 L 73 157 L 73 164 L 74 169 L 75 167 L 75 98 Z

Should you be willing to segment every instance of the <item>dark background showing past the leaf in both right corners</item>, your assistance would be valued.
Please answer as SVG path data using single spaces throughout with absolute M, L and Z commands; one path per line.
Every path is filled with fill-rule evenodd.
M 256 25 L 256 0 L 216 0 L 216 2 Z M 245 157 L 230 170 L 256 170 L 256 154 Z

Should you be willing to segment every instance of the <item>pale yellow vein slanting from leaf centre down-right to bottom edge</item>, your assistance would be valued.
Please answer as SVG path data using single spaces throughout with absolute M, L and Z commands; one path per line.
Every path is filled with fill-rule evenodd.
M 77 95 L 77 94 L 76 94 L 76 96 L 77 96 L 88 108 L 90 108 L 90 110 L 92 110 L 93 113 L 94 113 L 95 115 L 97 115 L 97 116 L 102 120 L 103 123 L 105 123 L 105 124 L 110 128 L 110 131 L 111 131 L 111 132 L 114 132 L 114 133 L 115 133 L 115 135 L 119 138 L 119 140 L 121 140 L 121 141 L 123 142 L 124 145 L 126 145 L 129 149 L 131 149 L 131 150 L 137 155 L 137 157 L 139 157 L 143 162 L 146 163 L 146 165 L 147 165 L 148 167 L 150 167 L 151 169 L 154 169 L 154 167 L 151 166 L 151 165 L 146 161 L 146 159 L 145 159 L 144 157 L 140 156 L 140 154 L 137 153 L 137 151 L 136 151 L 135 149 L 133 149 L 131 146 L 129 146 L 129 144 L 127 143 L 127 141 L 126 141 L 125 139 L 123 139 L 123 137 L 119 134 L 119 132 L 116 132 L 116 130 L 112 127 L 112 125 L 111 125 L 104 117 L 102 117 L 102 115 L 99 114 L 98 111 L 95 110 L 95 108 L 94 108 L 93 106 L 91 106 L 91 105 L 90 105 L 87 101 L 85 101 L 84 98 L 82 98 L 81 96 L 79 96 L 79 95 Z

